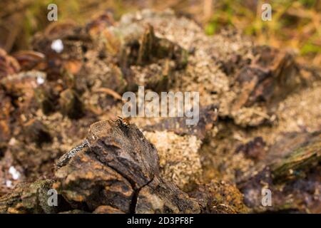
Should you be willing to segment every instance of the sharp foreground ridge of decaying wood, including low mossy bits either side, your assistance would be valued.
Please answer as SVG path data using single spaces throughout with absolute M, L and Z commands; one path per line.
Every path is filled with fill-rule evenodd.
M 1 198 L 0 212 L 52 212 L 49 210 L 51 207 L 46 207 L 43 201 L 33 201 L 34 197 L 41 198 L 43 195 L 32 195 L 46 192 L 51 187 L 58 190 L 59 196 L 63 197 L 62 206 L 55 207 L 55 212 L 70 208 L 94 213 L 243 211 L 241 202 L 238 202 L 240 208 L 235 206 L 231 209 L 232 206 L 225 205 L 225 200 L 238 200 L 238 190 L 232 186 L 228 187 L 224 183 L 213 185 L 225 186 L 223 192 L 217 192 L 213 187 L 200 187 L 191 195 L 195 196 L 193 198 L 173 183 L 162 180 L 158 171 L 156 148 L 144 138 L 135 125 L 101 121 L 91 125 L 86 141 L 87 144 L 79 148 L 73 157 L 57 167 L 56 182 L 48 182 L 49 185 L 44 182 L 44 186 L 34 183 L 18 187 L 16 193 Z M 35 186 L 39 186 L 39 190 L 31 191 Z M 24 197 L 27 192 L 28 197 Z M 204 205 L 203 197 L 198 197 L 202 194 L 209 200 Z M 236 195 L 233 197 L 234 194 Z M 228 195 L 232 198 L 221 198 Z M 214 204 L 217 208 L 215 206 L 210 210 L 205 209 Z

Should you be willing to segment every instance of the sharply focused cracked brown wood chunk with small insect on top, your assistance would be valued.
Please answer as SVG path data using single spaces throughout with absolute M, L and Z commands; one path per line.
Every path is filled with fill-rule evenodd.
M 163 211 L 156 207 L 162 204 L 173 212 L 198 211 L 197 202 L 188 195 L 158 180 L 156 148 L 135 125 L 101 121 L 91 125 L 86 140 L 88 147 L 56 171 L 56 186 L 68 201 L 86 203 L 89 209 L 109 204 L 123 212 L 136 212 L 137 202 L 139 212 Z M 155 197 L 145 196 L 150 188 L 149 194 L 158 195 L 162 202 L 153 207 L 147 204 L 154 203 Z M 158 189 L 165 189 L 167 195 Z M 185 199 L 175 199 L 178 195 L 185 195 Z M 147 201 L 142 204 L 143 199 Z

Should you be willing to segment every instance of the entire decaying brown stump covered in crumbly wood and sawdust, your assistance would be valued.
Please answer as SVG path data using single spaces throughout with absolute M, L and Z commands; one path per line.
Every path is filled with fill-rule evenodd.
M 292 53 L 148 10 L 52 24 L 32 46 L 0 50 L 0 212 L 321 211 L 320 75 Z M 138 86 L 198 91 L 198 124 L 113 120 Z

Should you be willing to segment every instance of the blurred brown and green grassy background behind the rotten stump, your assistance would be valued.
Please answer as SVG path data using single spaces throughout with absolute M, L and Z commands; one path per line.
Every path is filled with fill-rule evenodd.
M 222 28 L 235 28 L 253 36 L 258 43 L 291 48 L 299 61 L 321 65 L 321 0 L 1 0 L 0 47 L 8 52 L 28 49 L 31 37 L 51 22 L 48 4 L 58 6 L 58 22 L 86 21 L 103 11 L 115 19 L 143 8 L 174 9 L 200 24 L 209 36 Z M 261 20 L 261 6 L 272 6 L 272 21 Z

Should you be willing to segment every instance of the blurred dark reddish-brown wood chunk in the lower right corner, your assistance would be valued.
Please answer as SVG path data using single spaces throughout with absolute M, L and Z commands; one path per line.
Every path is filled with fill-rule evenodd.
M 238 188 L 245 195 L 245 203 L 256 212 L 291 210 L 304 211 L 302 200 L 307 197 L 307 191 L 320 190 L 320 159 L 321 150 L 320 132 L 299 134 L 302 140 L 293 140 L 292 137 L 285 138 L 272 147 L 270 154 L 277 157 L 267 157 L 238 183 Z M 290 148 L 287 145 L 289 141 Z M 287 150 L 280 154 L 280 147 L 287 145 Z M 282 187 L 280 187 L 282 186 Z M 305 186 L 305 187 L 304 187 Z M 272 191 L 272 207 L 266 208 L 261 204 L 262 195 L 260 191 L 267 188 Z M 315 197 L 309 198 L 308 204 L 312 209 L 317 209 L 320 204 L 318 192 Z M 286 196 L 290 198 L 287 201 Z

